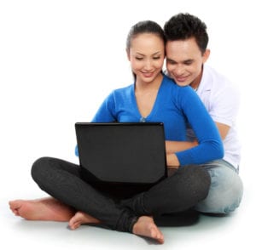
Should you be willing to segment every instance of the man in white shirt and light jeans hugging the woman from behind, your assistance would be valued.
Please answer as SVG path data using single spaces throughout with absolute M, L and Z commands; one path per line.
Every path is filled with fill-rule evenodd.
M 191 14 L 177 14 L 164 26 L 166 70 L 180 86 L 191 86 L 212 116 L 224 142 L 224 158 L 203 164 L 212 178 L 207 198 L 195 209 L 202 213 L 230 213 L 239 206 L 242 182 L 238 175 L 240 144 L 236 134 L 239 94 L 231 83 L 205 63 L 207 26 Z M 202 128 L 204 129 L 204 128 Z M 188 139 L 196 142 L 188 128 Z

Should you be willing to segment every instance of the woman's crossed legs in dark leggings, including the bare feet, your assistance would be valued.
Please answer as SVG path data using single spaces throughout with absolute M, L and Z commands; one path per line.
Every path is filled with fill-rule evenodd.
M 134 198 L 116 203 L 80 177 L 79 166 L 44 157 L 32 167 L 32 177 L 50 196 L 40 200 L 9 202 L 10 209 L 25 219 L 68 221 L 71 229 L 80 224 L 106 224 L 113 230 L 129 231 L 153 238 L 164 236 L 153 216 L 188 209 L 207 196 L 210 177 L 198 166 L 181 168 L 172 177 Z M 66 204 L 69 204 L 67 206 Z

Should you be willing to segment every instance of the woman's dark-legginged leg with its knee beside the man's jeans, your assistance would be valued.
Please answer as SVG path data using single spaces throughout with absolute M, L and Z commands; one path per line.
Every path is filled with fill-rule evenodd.
M 194 207 L 207 197 L 211 179 L 200 166 L 178 168 L 171 177 L 122 204 L 138 215 L 177 213 Z

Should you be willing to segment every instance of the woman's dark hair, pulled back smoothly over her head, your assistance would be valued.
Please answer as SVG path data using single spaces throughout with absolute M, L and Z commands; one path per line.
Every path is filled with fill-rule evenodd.
M 134 26 L 131 26 L 131 30 L 129 31 L 126 39 L 126 49 L 131 48 L 131 40 L 133 38 L 143 33 L 152 33 L 160 37 L 160 39 L 162 39 L 163 42 L 166 43 L 165 33 L 161 26 L 152 20 L 144 20 L 138 22 Z

